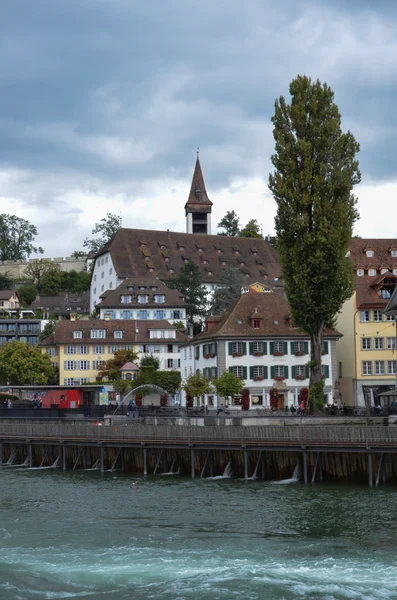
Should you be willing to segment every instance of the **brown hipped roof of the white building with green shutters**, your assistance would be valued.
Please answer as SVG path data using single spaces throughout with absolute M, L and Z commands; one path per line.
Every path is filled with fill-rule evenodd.
M 250 315 L 255 308 L 263 315 L 260 329 L 250 325 Z M 340 337 L 335 330 L 326 330 L 327 337 Z M 208 332 L 202 332 L 194 341 L 206 338 L 257 338 L 271 336 L 273 338 L 308 337 L 304 331 L 291 327 L 290 308 L 288 302 L 278 293 L 258 292 L 242 294 L 216 325 Z

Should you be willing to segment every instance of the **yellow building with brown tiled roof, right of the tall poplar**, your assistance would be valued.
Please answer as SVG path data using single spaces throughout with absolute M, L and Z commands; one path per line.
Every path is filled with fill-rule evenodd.
M 384 314 L 397 283 L 397 240 L 352 239 L 347 255 L 354 294 L 337 321 L 340 392 L 346 404 L 370 406 L 397 372 L 396 324 Z

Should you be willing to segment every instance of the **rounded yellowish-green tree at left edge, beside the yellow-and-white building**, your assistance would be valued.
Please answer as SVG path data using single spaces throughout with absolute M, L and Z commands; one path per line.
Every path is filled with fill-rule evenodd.
M 50 357 L 40 348 L 19 341 L 0 348 L 1 385 L 46 385 L 53 373 Z

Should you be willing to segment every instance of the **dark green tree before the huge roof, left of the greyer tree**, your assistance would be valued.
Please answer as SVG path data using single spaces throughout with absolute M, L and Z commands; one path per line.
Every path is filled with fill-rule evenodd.
M 185 299 L 186 314 L 190 324 L 197 317 L 203 317 L 207 311 L 207 290 L 203 285 L 198 266 L 189 260 L 183 265 L 179 275 L 166 281 L 172 290 L 179 290 Z

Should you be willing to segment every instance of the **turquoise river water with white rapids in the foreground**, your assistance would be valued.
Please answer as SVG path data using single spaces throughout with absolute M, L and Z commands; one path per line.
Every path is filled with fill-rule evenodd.
M 0 599 L 397 598 L 391 488 L 0 471 Z

